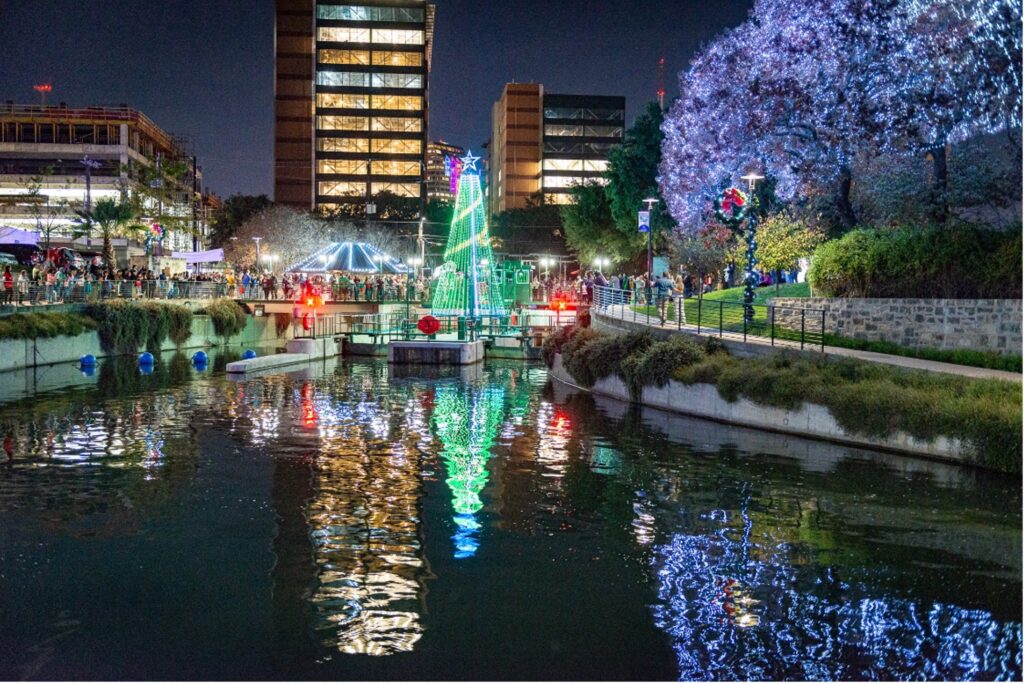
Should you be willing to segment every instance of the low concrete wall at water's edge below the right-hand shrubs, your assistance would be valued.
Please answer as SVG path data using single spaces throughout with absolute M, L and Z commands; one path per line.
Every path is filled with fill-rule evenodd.
M 559 382 L 574 386 L 572 377 L 562 366 L 561 354 L 555 356 L 551 376 Z M 590 390 L 602 396 L 624 401 L 632 400 L 629 387 L 618 377 L 602 378 L 595 382 Z M 798 410 L 787 411 L 754 403 L 745 398 L 730 403 L 722 398 L 718 389 L 711 384 L 687 385 L 672 380 L 664 387 L 644 387 L 640 403 L 716 422 L 756 427 L 835 443 L 927 456 L 956 463 L 966 463 L 970 459 L 969 444 L 958 439 L 940 436 L 932 441 L 924 441 L 904 432 L 896 432 L 885 438 L 851 434 L 844 430 L 833 418 L 828 409 L 822 405 L 805 403 Z

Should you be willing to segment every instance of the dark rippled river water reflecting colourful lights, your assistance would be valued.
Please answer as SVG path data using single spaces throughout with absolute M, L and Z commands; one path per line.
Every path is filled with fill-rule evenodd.
M 1021 677 L 1016 479 L 542 366 L 219 367 L 4 378 L 0 678 Z

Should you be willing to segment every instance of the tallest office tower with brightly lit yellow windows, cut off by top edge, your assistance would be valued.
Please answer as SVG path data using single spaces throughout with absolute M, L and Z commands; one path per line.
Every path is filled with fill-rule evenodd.
M 434 5 L 278 0 L 274 199 L 361 211 L 424 201 Z

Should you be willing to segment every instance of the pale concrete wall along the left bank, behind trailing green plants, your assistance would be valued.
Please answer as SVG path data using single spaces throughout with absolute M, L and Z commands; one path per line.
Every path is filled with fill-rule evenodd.
M 278 337 L 273 316 L 248 316 L 246 328 L 226 344 L 227 346 L 284 346 L 291 330 Z M 221 340 L 213 332 L 213 323 L 208 315 L 193 316 L 193 335 L 181 348 L 195 349 L 220 346 Z M 164 342 L 164 351 L 174 351 L 170 340 Z M 87 332 L 77 337 L 54 337 L 52 339 L 16 339 L 0 341 L 0 372 L 20 370 L 36 366 L 78 360 L 86 353 L 97 358 L 105 357 L 99 346 L 99 333 Z

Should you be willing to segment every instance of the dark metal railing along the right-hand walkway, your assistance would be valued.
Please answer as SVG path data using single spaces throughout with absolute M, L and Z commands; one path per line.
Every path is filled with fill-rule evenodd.
M 591 311 L 660 329 L 824 350 L 825 310 L 710 300 L 595 287 Z

